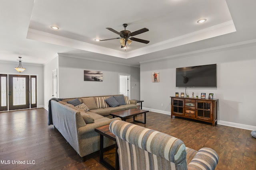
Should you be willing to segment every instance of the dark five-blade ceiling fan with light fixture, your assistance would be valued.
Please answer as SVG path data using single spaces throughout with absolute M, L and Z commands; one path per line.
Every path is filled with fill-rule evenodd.
M 95 39 L 96 41 L 107 41 L 107 40 L 112 40 L 112 39 L 120 39 L 120 43 L 121 43 L 121 48 L 124 48 L 126 49 L 127 48 L 127 45 L 126 43 L 128 43 L 129 45 L 132 43 L 132 41 L 137 41 L 137 42 L 140 42 L 140 43 L 145 43 L 145 44 L 148 44 L 149 41 L 147 40 L 144 40 L 144 39 L 139 39 L 139 38 L 135 38 L 133 37 L 134 35 L 138 35 L 138 34 L 141 34 L 141 33 L 144 33 L 146 31 L 149 31 L 149 29 L 147 28 L 142 28 L 142 29 L 139 29 L 137 31 L 134 31 L 134 32 L 131 32 L 131 31 L 128 31 L 126 30 L 126 27 L 127 27 L 127 23 L 124 23 L 123 24 L 123 27 L 124 27 L 124 30 L 123 31 L 116 31 L 112 28 L 106 28 L 118 35 L 120 35 L 120 37 L 118 38 L 111 38 L 111 39 Z

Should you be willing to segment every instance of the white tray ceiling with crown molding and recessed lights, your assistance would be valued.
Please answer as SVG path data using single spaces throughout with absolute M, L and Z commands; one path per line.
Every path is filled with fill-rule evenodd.
M 2 0 L 0 61 L 45 64 L 57 53 L 138 65 L 168 57 L 254 43 L 255 0 Z M 196 21 L 206 18 L 205 23 Z M 149 31 L 121 49 L 106 29 Z M 60 27 L 51 29 L 51 25 Z

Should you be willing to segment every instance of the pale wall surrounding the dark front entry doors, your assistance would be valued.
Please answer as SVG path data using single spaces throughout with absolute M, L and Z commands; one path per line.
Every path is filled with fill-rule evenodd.
M 37 75 L 38 77 L 38 107 L 44 106 L 44 72 L 42 65 L 30 65 L 24 64 L 22 62 L 22 66 L 26 68 L 26 70 L 22 73 L 16 71 L 14 67 L 17 67 L 19 62 L 17 63 L 0 63 L 0 74 L 15 74 L 15 75 Z

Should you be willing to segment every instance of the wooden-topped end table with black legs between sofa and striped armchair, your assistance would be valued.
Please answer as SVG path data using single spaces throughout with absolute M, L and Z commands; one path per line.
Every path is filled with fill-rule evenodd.
M 119 170 L 119 159 L 118 159 L 118 146 L 116 143 L 116 163 L 115 167 L 112 167 L 106 160 L 103 158 L 103 153 L 104 153 L 104 136 L 115 141 L 116 142 L 116 135 L 110 132 L 109 130 L 109 125 L 104 125 L 102 127 L 95 128 L 95 131 L 100 133 L 100 163 L 102 163 L 104 166 L 106 166 L 110 170 Z

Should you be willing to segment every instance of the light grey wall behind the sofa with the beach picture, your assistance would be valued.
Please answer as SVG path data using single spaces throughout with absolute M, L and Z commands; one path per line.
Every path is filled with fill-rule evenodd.
M 84 70 L 103 72 L 103 81 L 84 81 Z M 118 94 L 119 74 L 130 74 L 130 99 L 140 98 L 140 68 L 59 56 L 59 97 Z M 137 86 L 134 86 L 137 84 Z M 134 88 L 132 88 L 134 86 Z

